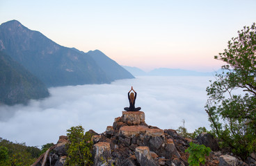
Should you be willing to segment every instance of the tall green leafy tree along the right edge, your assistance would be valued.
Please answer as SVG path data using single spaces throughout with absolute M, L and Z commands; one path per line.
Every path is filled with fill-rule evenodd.
M 256 26 L 245 26 L 215 59 L 226 63 L 207 87 L 205 110 L 223 147 L 245 159 L 256 151 Z

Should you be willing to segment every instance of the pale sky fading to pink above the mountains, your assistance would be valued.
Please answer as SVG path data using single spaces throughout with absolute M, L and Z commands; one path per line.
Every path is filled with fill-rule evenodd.
M 254 0 L 0 0 L 0 24 L 16 19 L 61 46 L 145 71 L 212 71 L 222 65 L 214 55 L 256 21 L 255 8 Z

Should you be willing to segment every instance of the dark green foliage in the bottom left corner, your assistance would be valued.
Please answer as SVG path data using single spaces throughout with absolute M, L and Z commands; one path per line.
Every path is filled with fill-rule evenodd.
M 0 138 L 0 165 L 32 165 L 38 158 L 40 149 L 26 147 L 24 143 L 14 143 Z

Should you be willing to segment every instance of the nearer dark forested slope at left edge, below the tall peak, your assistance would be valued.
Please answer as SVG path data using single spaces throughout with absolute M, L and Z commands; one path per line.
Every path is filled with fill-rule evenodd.
M 49 96 L 45 84 L 0 51 L 0 104 L 26 103 Z

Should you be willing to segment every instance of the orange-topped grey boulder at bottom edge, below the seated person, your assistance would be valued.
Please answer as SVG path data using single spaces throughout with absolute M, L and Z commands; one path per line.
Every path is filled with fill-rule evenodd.
M 147 165 L 147 166 L 158 165 L 150 155 L 150 149 L 148 147 L 136 147 L 135 156 L 140 165 Z

